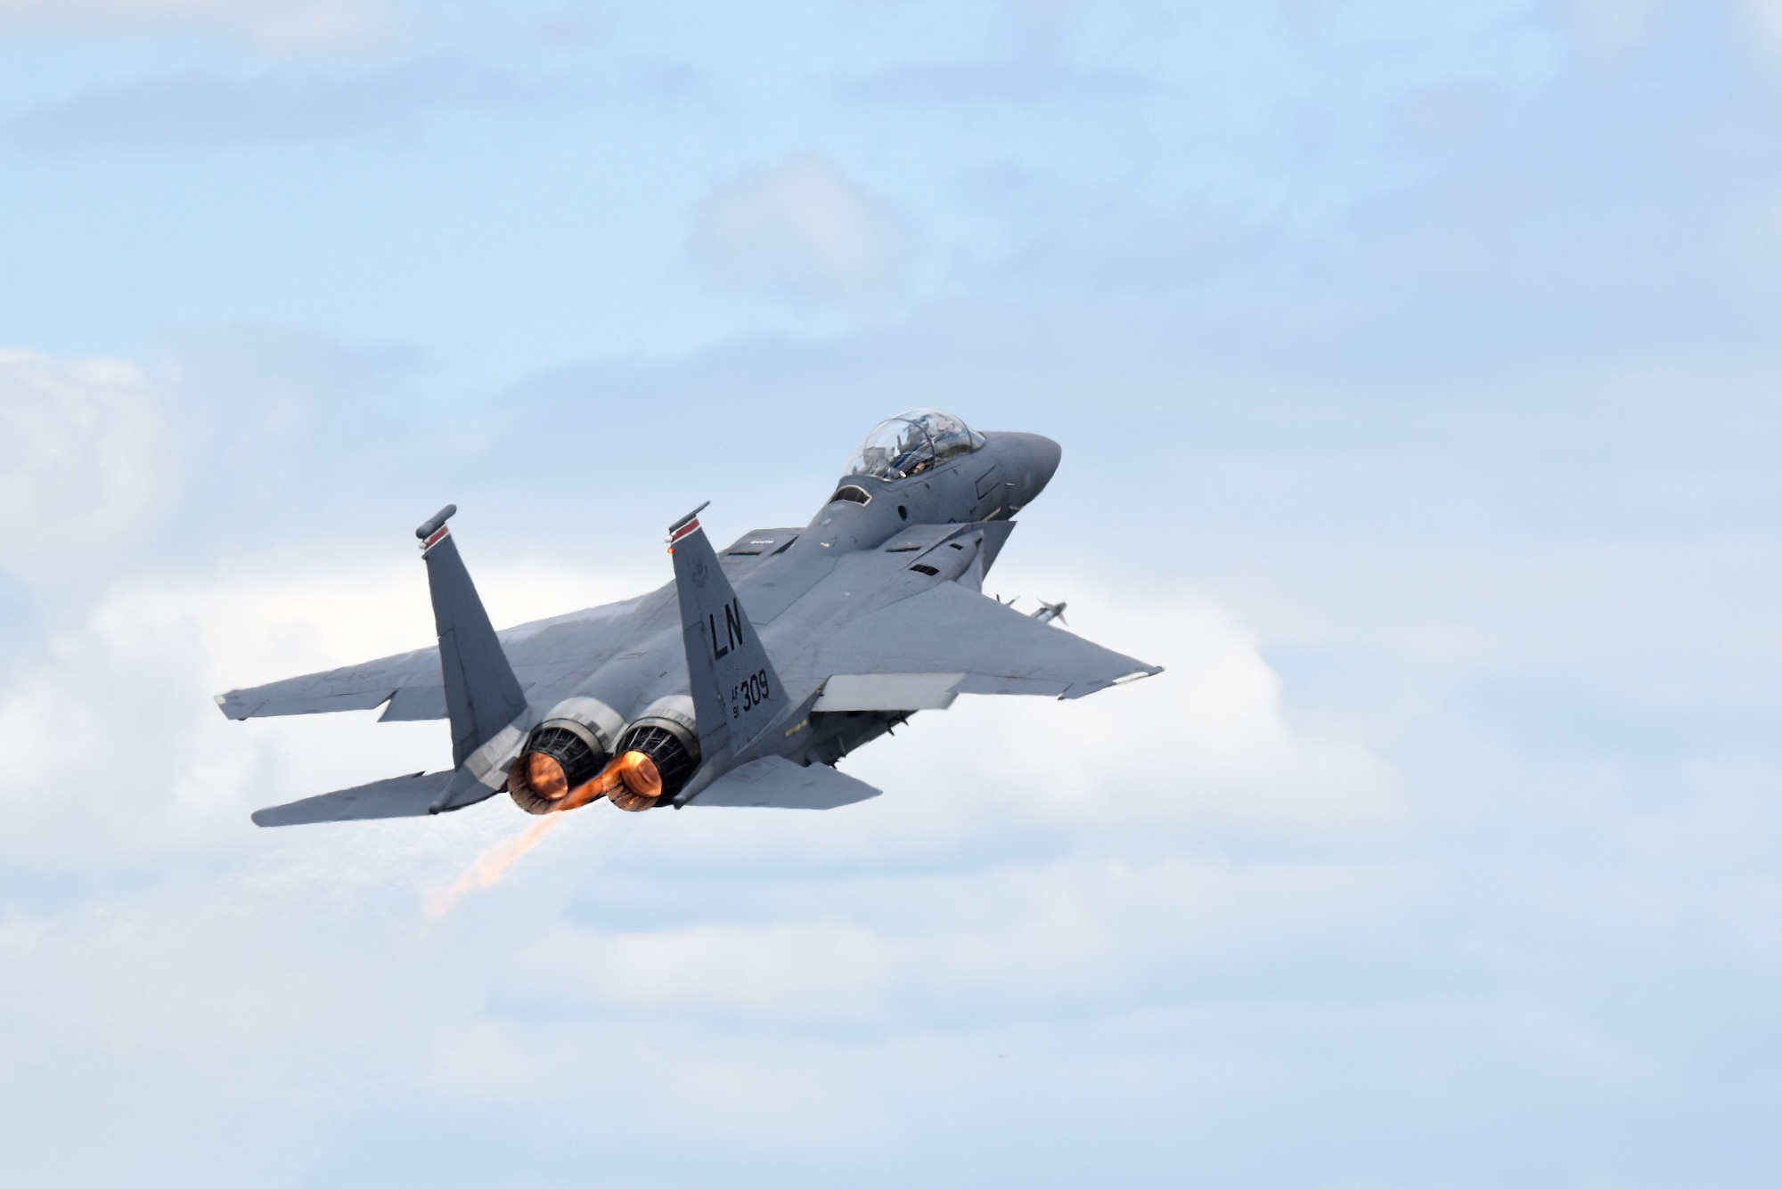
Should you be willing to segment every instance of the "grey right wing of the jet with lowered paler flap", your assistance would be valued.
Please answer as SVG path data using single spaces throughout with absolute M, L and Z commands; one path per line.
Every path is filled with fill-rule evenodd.
M 829 678 L 823 696 L 834 705 L 820 701 L 816 710 L 921 710 L 944 707 L 952 694 L 1082 698 L 1164 671 L 957 582 L 839 623 L 804 659 Z

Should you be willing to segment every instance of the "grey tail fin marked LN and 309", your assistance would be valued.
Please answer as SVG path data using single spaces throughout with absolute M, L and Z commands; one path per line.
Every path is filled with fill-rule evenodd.
M 743 614 L 718 555 L 699 527 L 704 504 L 668 529 L 674 584 L 699 749 L 707 762 L 736 755 L 786 708 L 786 692 L 756 625 Z

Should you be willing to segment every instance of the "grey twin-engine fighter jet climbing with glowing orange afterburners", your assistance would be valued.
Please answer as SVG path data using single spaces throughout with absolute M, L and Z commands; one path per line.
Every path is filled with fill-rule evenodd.
M 232 719 L 371 710 L 449 719 L 453 771 L 258 810 L 260 826 L 421 817 L 506 790 L 529 813 L 827 810 L 879 790 L 834 764 L 957 694 L 1082 698 L 1162 673 L 982 593 L 1014 516 L 1059 468 L 1039 434 L 977 433 L 937 409 L 873 429 L 804 529 L 713 552 L 699 513 L 668 527 L 674 582 L 622 603 L 490 627 L 446 527 L 415 529 L 438 648 L 217 696 Z

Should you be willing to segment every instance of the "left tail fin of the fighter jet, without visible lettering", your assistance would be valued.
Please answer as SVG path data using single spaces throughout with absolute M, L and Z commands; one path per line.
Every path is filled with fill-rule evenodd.
M 446 527 L 456 511 L 456 504 L 447 504 L 415 529 L 415 536 L 421 538 L 421 557 L 428 562 L 433 627 L 440 635 L 451 762 L 462 767 L 470 753 L 526 710 L 526 694 L 520 692 L 508 653 L 501 651 L 470 571 L 463 568 L 463 557 Z

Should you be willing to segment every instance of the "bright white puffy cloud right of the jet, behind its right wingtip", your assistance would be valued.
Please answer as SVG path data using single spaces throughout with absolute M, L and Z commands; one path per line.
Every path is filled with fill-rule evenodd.
M 1399 821 L 1390 774 L 1365 748 L 1287 724 L 1255 634 L 1221 607 L 1096 589 L 1082 575 L 1009 570 L 998 580 L 1071 589 L 1075 630 L 1164 673 L 1075 701 L 964 698 L 944 716 L 920 716 L 905 748 L 948 756 L 941 789 L 923 796 L 977 790 L 968 796 L 978 812 L 1073 828 L 1137 815 L 1299 842 L 1342 842 Z M 912 781 L 891 746 L 845 765 L 887 787 L 930 783 Z

